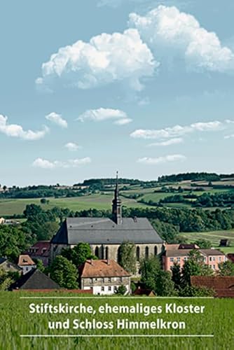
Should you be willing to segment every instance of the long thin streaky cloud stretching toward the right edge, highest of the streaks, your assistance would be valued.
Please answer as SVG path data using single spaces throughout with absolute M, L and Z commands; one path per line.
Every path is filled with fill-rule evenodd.
M 130 134 L 130 137 L 135 139 L 170 139 L 181 137 L 185 134 L 191 134 L 192 132 L 215 132 L 224 130 L 227 127 L 227 121 L 220 122 L 215 120 L 207 123 L 193 123 L 191 125 L 174 125 L 174 127 L 165 127 L 165 129 L 158 130 L 144 130 L 138 129 Z

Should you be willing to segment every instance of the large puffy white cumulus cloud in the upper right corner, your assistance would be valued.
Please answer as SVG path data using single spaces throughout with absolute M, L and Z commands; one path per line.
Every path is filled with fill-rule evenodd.
M 156 57 L 182 57 L 190 68 L 226 71 L 234 68 L 234 54 L 222 46 L 212 31 L 200 26 L 193 15 L 175 6 L 158 6 L 141 16 L 130 13 L 130 27 L 138 29 Z

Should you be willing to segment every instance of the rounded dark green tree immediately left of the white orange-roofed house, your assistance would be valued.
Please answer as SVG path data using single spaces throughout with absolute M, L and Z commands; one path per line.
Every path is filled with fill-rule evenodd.
M 76 266 L 62 255 L 57 255 L 50 265 L 50 277 L 62 288 L 78 288 L 78 271 Z

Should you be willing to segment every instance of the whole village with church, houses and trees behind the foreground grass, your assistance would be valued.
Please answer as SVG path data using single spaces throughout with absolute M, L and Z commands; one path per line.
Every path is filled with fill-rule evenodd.
M 51 239 L 39 239 L 27 249 L 18 246 L 19 254 L 13 253 L 12 241 L 12 253 L 8 248 L 0 258 L 1 290 L 234 297 L 234 248 L 223 253 L 228 239 L 216 248 L 205 239 L 188 243 L 180 237 L 175 243 L 170 241 L 170 225 L 165 239 L 149 218 L 123 216 L 120 183 L 117 176 L 111 215 L 63 213 Z M 47 220 L 48 214 L 37 210 L 32 204 L 26 212 L 33 230 L 38 229 L 36 216 Z M 16 232 L 18 220 L 1 218 L 0 228 Z

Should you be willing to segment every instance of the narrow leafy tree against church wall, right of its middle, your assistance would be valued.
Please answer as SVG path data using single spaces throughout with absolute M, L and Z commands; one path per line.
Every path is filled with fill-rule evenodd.
M 130 241 L 124 241 L 119 247 L 119 264 L 130 274 L 136 273 L 136 247 Z

